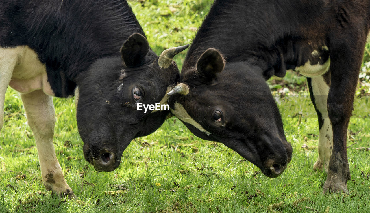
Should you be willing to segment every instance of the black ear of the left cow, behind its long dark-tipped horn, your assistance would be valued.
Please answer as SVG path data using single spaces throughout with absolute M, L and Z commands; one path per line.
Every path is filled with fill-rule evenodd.
M 148 40 L 135 32 L 125 41 L 121 47 L 122 59 L 129 68 L 141 66 L 149 51 Z

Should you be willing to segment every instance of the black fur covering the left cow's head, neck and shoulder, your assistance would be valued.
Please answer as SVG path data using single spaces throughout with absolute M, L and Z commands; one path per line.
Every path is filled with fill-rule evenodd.
M 159 67 L 125 0 L 0 1 L 0 46 L 19 45 L 46 64 L 55 96 L 79 87 L 78 130 L 97 170 L 116 169 L 130 141 L 157 130 L 169 113 L 136 109 L 137 102 L 160 102 L 179 71 L 174 62 Z

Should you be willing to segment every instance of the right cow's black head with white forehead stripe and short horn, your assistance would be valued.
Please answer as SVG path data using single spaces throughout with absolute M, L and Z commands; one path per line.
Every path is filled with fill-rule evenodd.
M 196 136 L 218 141 L 275 178 L 292 155 L 262 70 L 245 62 L 225 65 L 213 48 L 168 95 L 172 113 Z

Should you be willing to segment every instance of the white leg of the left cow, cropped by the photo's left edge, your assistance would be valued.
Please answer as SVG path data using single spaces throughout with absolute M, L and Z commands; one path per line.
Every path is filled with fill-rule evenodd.
M 15 48 L 0 48 L 0 130 L 4 124 L 4 100 L 18 54 Z

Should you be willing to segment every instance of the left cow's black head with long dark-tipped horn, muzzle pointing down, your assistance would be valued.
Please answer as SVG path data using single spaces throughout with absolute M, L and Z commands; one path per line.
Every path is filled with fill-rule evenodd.
M 137 103 L 164 102 L 179 79 L 172 60 L 188 45 L 158 57 L 147 39 L 135 33 L 123 44 L 121 57 L 98 59 L 78 79 L 77 124 L 84 157 L 97 171 L 113 171 L 134 138 L 153 133 L 169 111 L 137 110 Z

